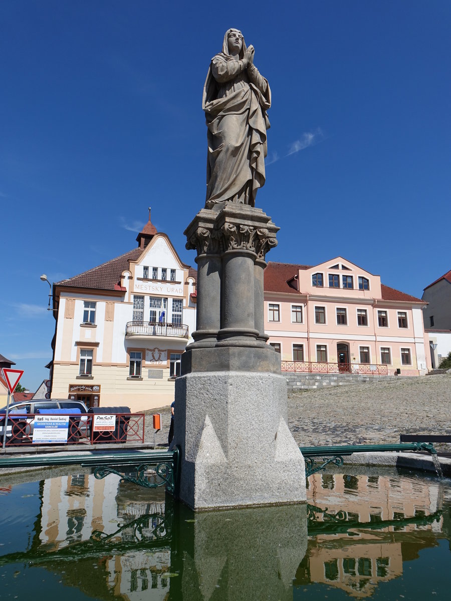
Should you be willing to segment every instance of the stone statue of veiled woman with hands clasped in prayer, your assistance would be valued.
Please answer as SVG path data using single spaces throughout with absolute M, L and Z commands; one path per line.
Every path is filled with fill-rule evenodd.
M 268 81 L 254 66 L 254 47 L 241 31 L 228 29 L 222 52 L 213 56 L 204 85 L 202 108 L 208 127 L 206 209 L 216 203 L 255 206 L 265 183 Z

